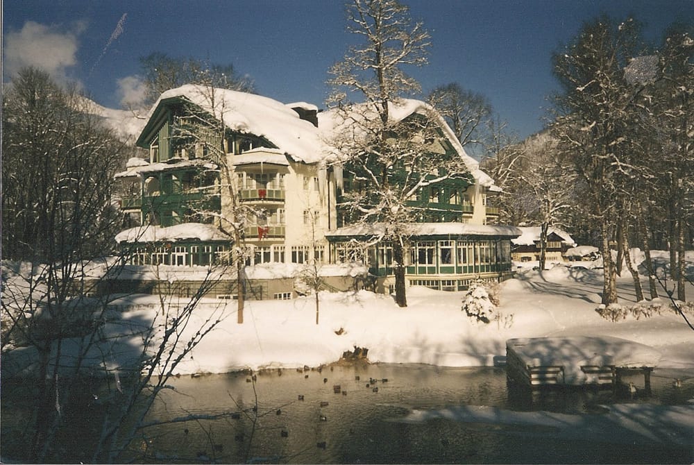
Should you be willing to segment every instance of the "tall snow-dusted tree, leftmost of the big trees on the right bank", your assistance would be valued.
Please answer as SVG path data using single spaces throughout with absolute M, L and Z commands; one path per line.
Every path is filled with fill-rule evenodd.
M 640 89 L 627 84 L 624 69 L 641 53 L 640 27 L 632 19 L 620 24 L 602 17 L 584 26 L 553 56 L 555 75 L 563 87 L 557 99 L 561 115 L 553 133 L 573 155 L 585 200 L 600 225 L 604 261 L 602 303 L 617 302 L 616 264 L 611 241 L 616 237 L 623 186 L 632 182 L 627 135 L 632 130 L 634 98 Z

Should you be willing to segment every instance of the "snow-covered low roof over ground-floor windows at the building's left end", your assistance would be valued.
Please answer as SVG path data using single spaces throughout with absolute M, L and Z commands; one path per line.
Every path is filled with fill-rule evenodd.
M 175 226 L 137 226 L 118 233 L 116 242 L 162 242 L 198 239 L 201 241 L 228 241 L 230 237 L 211 224 L 182 223 Z

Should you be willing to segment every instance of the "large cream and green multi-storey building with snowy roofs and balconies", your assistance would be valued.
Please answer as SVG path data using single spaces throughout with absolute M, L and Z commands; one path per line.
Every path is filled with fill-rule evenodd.
M 393 113 L 421 116 L 424 105 L 406 101 Z M 116 175 L 125 192 L 121 208 L 134 225 L 116 237 L 130 266 L 209 267 L 243 253 L 246 276 L 266 276 L 251 298 L 296 295 L 297 276 L 310 268 L 330 289 L 367 283 L 388 291 L 388 244 L 364 247 L 373 231 L 353 230 L 339 210 L 347 174 L 330 162 L 332 117 L 307 103 L 232 90 L 184 85 L 164 92 L 137 138 L 149 160 L 131 159 Z M 439 146 L 462 157 L 471 176 L 412 200 L 427 214 L 412 226 L 409 285 L 460 290 L 474 278 L 501 280 L 511 272 L 510 239 L 520 231 L 493 225 L 491 198 L 499 189 L 438 122 Z

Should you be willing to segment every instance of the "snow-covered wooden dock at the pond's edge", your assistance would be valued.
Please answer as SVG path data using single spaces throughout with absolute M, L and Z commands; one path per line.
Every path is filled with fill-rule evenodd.
M 616 337 L 536 337 L 506 341 L 509 380 L 532 389 L 544 386 L 609 386 L 625 373 L 650 372 L 660 353 L 650 346 Z

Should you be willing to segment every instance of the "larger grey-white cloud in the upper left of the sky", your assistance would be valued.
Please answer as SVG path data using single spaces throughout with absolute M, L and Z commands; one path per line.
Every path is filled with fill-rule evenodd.
M 77 63 L 78 36 L 85 24 L 70 28 L 28 21 L 19 31 L 5 35 L 3 65 L 6 76 L 32 66 L 48 72 L 56 81 L 67 81 L 67 71 Z

